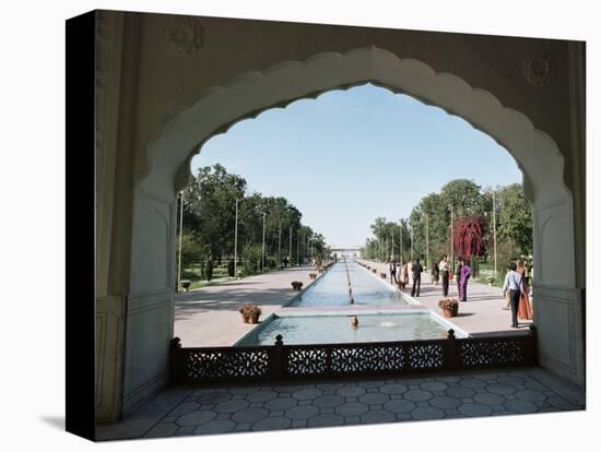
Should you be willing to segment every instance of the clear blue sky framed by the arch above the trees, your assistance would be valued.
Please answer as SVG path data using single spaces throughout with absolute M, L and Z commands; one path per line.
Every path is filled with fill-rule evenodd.
M 378 216 L 408 217 L 449 180 L 520 182 L 509 153 L 467 121 L 373 85 L 264 111 L 208 141 L 192 171 L 220 163 L 249 192 L 282 195 L 328 243 L 363 245 Z

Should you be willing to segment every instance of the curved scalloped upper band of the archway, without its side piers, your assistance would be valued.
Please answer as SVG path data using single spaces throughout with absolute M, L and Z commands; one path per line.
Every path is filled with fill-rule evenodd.
M 163 192 L 169 186 L 168 191 L 175 193 L 189 180 L 191 158 L 211 136 L 264 110 L 366 83 L 437 106 L 493 138 L 516 160 L 523 175 L 525 193 L 532 202 L 549 202 L 569 193 L 557 145 L 526 115 L 503 106 L 492 93 L 473 88 L 455 74 L 437 73 L 422 61 L 400 59 L 374 46 L 345 53 L 318 53 L 304 62 L 280 62 L 262 72 L 244 73 L 226 86 L 202 91 L 190 105 L 178 108 L 149 144 L 141 186 L 158 185 Z

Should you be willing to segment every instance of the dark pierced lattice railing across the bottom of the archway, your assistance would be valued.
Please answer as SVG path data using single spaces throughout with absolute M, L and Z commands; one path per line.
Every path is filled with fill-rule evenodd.
M 175 384 L 267 382 L 358 376 L 398 376 L 426 371 L 533 366 L 537 332 L 496 337 L 182 348 L 172 341 Z

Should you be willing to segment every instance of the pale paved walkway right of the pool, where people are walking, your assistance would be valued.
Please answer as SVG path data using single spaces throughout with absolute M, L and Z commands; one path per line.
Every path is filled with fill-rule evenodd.
M 387 263 L 367 260 L 360 260 L 360 262 L 378 269 L 378 273 L 377 275 L 375 274 L 374 277 L 380 277 L 379 273 L 381 272 L 386 273 L 388 281 L 390 281 Z M 405 288 L 402 292 L 406 297 L 410 297 L 411 287 Z M 448 296 L 449 298 L 458 297 L 457 283 L 455 281 L 449 283 Z M 415 297 L 413 299 L 426 308 L 441 314 L 441 310 L 438 308 L 438 300 L 441 298 L 444 298 L 441 282 L 438 286 L 435 286 L 431 284 L 428 273 L 422 274 L 422 289 L 420 297 Z M 468 301 L 461 302 L 459 305 L 458 316 L 448 320 L 473 336 L 498 334 L 502 332 L 512 333 L 516 330 L 509 326 L 511 324 L 511 311 L 503 310 L 502 308 L 505 306 L 506 301 L 505 297 L 503 297 L 500 288 L 469 281 Z M 520 320 L 519 330 L 527 331 L 531 323 L 531 320 Z

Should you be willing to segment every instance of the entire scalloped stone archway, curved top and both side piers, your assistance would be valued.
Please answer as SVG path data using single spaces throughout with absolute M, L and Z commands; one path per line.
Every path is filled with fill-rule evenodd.
M 173 334 L 175 194 L 190 160 L 211 136 L 261 111 L 364 83 L 402 92 L 457 115 L 502 144 L 523 174 L 533 203 L 535 323 L 541 364 L 584 382 L 582 324 L 576 289 L 574 215 L 564 158 L 529 118 L 457 75 L 376 48 L 318 53 L 204 90 L 157 131 L 138 167 L 130 305 L 127 314 L 123 412 L 166 381 Z M 154 259 L 149 260 L 151 253 Z M 144 309 L 162 304 L 161 309 Z M 157 306 L 157 305 L 156 305 Z M 137 308 L 139 307 L 139 309 Z

